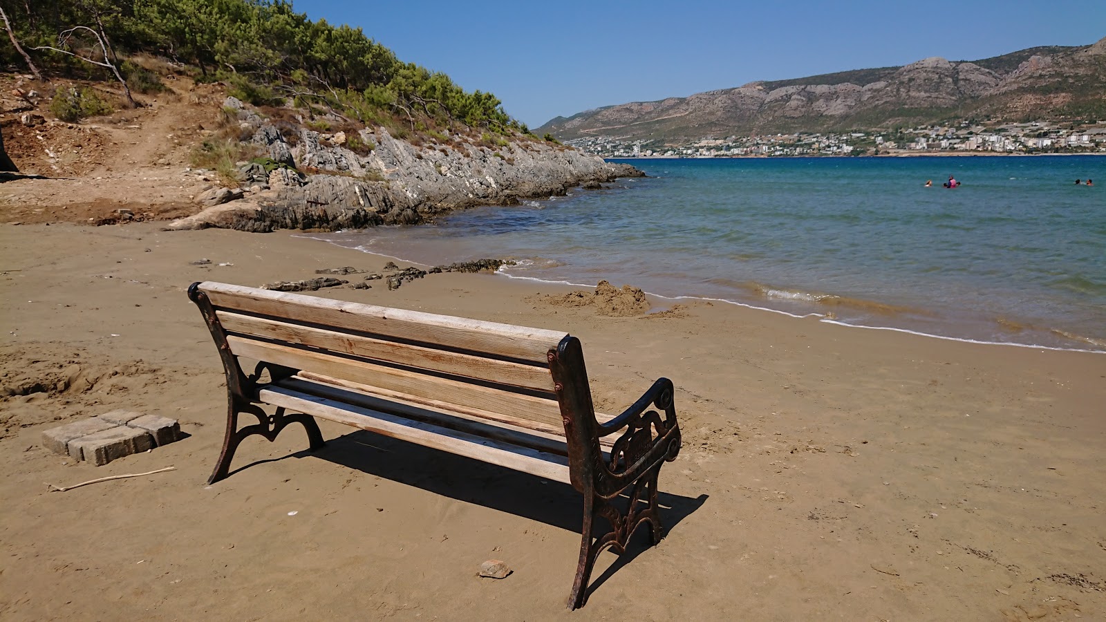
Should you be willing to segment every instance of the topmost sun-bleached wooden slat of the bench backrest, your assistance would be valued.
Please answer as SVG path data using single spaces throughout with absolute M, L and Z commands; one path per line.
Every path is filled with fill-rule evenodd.
M 217 308 L 547 364 L 567 333 L 206 281 Z

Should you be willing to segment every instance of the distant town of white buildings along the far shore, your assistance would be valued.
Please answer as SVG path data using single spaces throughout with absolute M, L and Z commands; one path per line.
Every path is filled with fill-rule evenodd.
M 706 137 L 682 145 L 589 136 L 566 144 L 603 157 L 787 157 L 906 155 L 1106 154 L 1106 121 L 919 126 L 889 132 Z

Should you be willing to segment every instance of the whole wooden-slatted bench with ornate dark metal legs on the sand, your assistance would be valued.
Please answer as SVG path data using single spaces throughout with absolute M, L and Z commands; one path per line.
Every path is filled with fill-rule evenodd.
M 188 297 L 227 374 L 227 433 L 209 484 L 254 434 L 273 440 L 300 423 L 321 447 L 313 417 L 570 484 L 584 497 L 570 609 L 583 605 L 603 549 L 624 552 L 643 522 L 654 543 L 661 538 L 657 476 L 680 448 L 668 379 L 604 416 L 580 340 L 563 332 L 216 282 L 194 283 Z M 243 359 L 255 362 L 249 374 Z M 243 413 L 258 423 L 239 428 Z M 593 537 L 596 517 L 611 530 Z

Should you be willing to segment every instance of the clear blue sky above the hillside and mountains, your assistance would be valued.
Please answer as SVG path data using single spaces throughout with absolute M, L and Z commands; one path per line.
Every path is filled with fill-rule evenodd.
M 908 6 L 909 4 L 909 6 Z M 295 0 L 538 127 L 596 106 L 1106 37 L 1106 0 Z

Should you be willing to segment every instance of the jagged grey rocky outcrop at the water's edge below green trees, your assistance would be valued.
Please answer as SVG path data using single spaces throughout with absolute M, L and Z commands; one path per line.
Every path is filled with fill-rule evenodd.
M 643 176 L 632 166 L 543 141 L 495 137 L 488 143 L 455 134 L 415 145 L 383 127 L 348 134 L 286 122 L 278 127 L 233 97 L 223 110 L 237 116 L 241 135 L 262 157 L 240 166 L 240 189 L 205 193 L 198 200 L 210 207 L 173 222 L 171 229 L 415 225 L 456 209 Z

